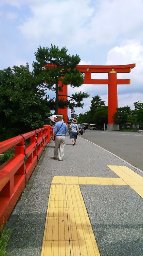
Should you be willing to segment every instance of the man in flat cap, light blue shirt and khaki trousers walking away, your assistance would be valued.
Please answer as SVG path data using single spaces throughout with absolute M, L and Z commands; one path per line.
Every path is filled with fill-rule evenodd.
M 62 119 L 62 115 L 57 115 L 57 122 L 54 126 L 52 137 L 53 141 L 55 139 L 55 150 L 53 158 L 58 159 L 59 161 L 62 161 L 64 157 L 65 135 L 67 133 L 67 125 L 62 121 Z

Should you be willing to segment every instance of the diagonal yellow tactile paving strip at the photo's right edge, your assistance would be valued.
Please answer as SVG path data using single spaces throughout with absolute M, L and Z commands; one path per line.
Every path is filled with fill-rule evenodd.
M 143 177 L 141 175 L 132 171 L 127 166 L 108 165 L 108 167 L 143 197 Z

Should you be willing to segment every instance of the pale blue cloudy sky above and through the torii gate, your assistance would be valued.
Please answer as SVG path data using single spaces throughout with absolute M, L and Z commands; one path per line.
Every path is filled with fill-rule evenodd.
M 134 109 L 134 101 L 143 102 L 142 13 L 143 0 L 1 0 L 0 69 L 26 62 L 32 67 L 39 45 L 51 43 L 78 54 L 83 65 L 136 63 L 130 73 L 117 74 L 131 79 L 130 85 L 118 85 L 118 106 Z M 92 78 L 104 77 L 107 74 Z M 80 90 L 90 97 L 75 113 L 88 111 L 96 94 L 107 104 L 107 85 L 68 86 L 68 95 Z

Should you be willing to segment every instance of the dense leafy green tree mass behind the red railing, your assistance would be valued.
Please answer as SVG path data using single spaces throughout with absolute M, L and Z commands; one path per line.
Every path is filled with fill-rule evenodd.
M 0 139 L 43 126 L 48 97 L 37 84 L 29 64 L 0 71 Z

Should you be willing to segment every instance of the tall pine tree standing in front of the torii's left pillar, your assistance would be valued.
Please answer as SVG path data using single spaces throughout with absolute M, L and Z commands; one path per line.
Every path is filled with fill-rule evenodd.
M 73 88 L 81 86 L 84 81 L 84 75 L 76 69 L 76 65 L 78 65 L 81 59 L 78 55 L 70 56 L 67 54 L 67 51 L 66 47 L 59 49 L 58 46 L 56 47 L 52 44 L 51 48 L 41 48 L 40 46 L 35 53 L 36 61 L 33 62 L 34 74 L 37 77 L 38 83 L 44 88 L 55 91 L 55 104 L 54 99 L 52 101 L 55 114 L 58 113 L 58 107 L 83 108 L 81 101 L 89 96 L 87 93 L 80 92 L 73 94 L 72 97 L 68 96 L 74 102 L 58 100 L 59 90 L 62 91 L 62 87 L 58 87 L 58 81 L 61 81 L 62 86 L 70 84 Z M 52 64 L 53 68 L 46 66 L 47 64 Z

